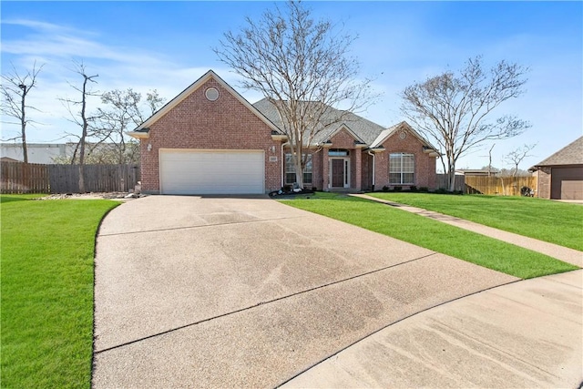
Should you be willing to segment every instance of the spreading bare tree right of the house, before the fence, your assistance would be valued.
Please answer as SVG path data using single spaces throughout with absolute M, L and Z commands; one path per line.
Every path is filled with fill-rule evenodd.
M 442 150 L 440 159 L 450 190 L 455 185 L 457 159 L 485 141 L 512 138 L 530 127 L 508 115 L 489 119 L 506 100 L 522 95 L 527 70 L 503 60 L 488 72 L 481 56 L 476 56 L 457 75 L 445 72 L 402 92 L 404 115 Z

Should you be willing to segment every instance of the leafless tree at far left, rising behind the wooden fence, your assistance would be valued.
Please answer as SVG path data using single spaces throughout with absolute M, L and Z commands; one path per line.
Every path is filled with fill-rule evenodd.
M 20 125 L 20 135 L 15 138 L 3 139 L 3 140 L 16 140 L 21 139 L 22 141 L 22 154 L 24 162 L 28 163 L 28 151 L 26 149 L 26 125 L 29 123 L 34 123 L 33 120 L 26 117 L 26 109 L 36 109 L 36 107 L 31 107 L 26 105 L 26 97 L 30 91 L 36 87 L 36 77 L 40 73 L 44 65 L 36 67 L 36 61 L 33 64 L 31 70 L 26 70 L 26 75 L 21 76 L 16 71 L 14 65 L 12 65 L 12 71 L 2 75 L 2 84 L 0 85 L 0 92 L 2 93 L 2 113 L 9 118 L 15 118 L 18 123 L 7 122 L 7 124 L 18 124 Z

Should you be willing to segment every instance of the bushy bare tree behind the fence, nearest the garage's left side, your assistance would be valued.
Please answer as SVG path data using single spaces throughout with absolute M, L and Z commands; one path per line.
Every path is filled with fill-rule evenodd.
M 128 140 L 126 131 L 135 128 L 152 115 L 164 102 L 157 90 L 149 91 L 144 103 L 142 95 L 132 88 L 127 90 L 114 89 L 101 95 L 104 107 L 98 108 L 96 125 L 99 142 L 109 142 L 109 152 L 102 149 L 98 152 L 100 160 L 109 163 L 130 163 L 138 159 L 137 142 Z M 132 144 L 135 143 L 135 144 Z M 114 157 L 115 158 L 111 158 Z M 103 162 L 102 162 L 103 163 Z

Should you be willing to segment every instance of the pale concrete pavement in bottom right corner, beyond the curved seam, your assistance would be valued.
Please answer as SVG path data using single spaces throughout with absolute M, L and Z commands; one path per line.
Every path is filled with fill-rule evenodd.
M 499 286 L 418 313 L 283 384 L 569 387 L 583 381 L 583 271 Z

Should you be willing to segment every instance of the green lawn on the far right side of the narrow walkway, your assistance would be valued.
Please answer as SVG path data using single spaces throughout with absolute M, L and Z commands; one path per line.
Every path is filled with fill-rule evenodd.
M 372 193 L 371 196 L 435 210 L 539 241 L 583 251 L 583 206 L 526 197 Z

